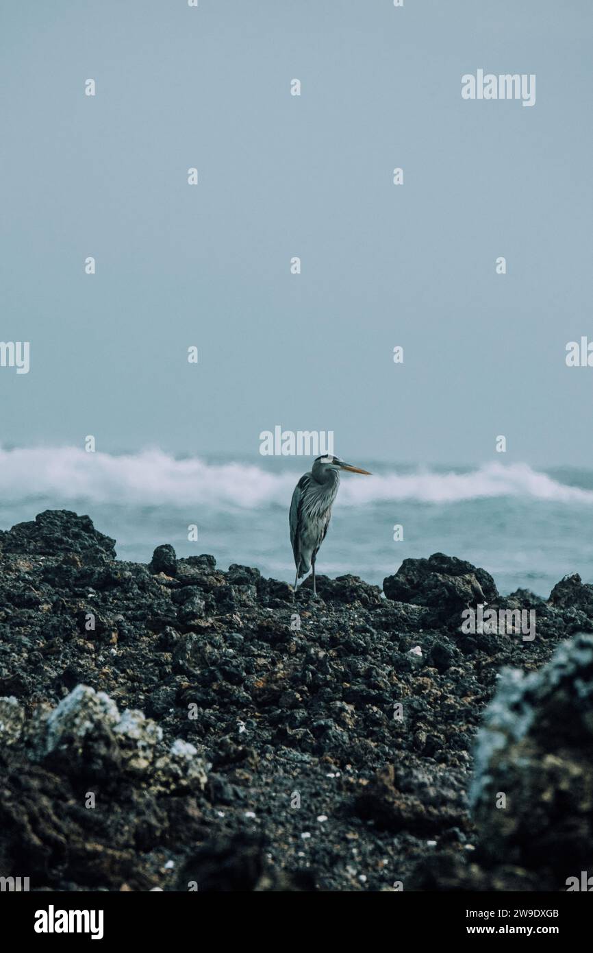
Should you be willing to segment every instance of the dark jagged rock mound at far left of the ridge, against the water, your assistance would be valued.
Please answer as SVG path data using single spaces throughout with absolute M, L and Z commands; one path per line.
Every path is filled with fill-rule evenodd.
M 0 532 L 0 548 L 5 553 L 35 556 L 75 554 L 84 562 L 115 558 L 115 539 L 99 533 L 90 517 L 78 517 L 69 510 L 46 510 L 34 520 L 17 523 Z

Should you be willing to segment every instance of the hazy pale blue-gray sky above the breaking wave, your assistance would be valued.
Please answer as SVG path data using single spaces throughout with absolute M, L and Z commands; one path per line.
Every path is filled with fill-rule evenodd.
M 593 466 L 592 41 L 589 0 L 5 0 L 0 442 Z

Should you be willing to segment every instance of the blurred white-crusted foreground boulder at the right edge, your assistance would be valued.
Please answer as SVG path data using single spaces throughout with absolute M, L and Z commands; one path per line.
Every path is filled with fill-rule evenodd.
M 540 672 L 505 669 L 486 709 L 471 788 L 489 864 L 544 869 L 553 887 L 593 869 L 593 637 Z

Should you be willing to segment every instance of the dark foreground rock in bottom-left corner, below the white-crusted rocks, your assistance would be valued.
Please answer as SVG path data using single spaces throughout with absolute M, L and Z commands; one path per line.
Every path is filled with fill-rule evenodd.
M 162 878 L 148 852 L 204 836 L 189 799 L 182 805 L 131 785 L 121 801 L 109 801 L 101 787 L 81 788 L 16 753 L 0 752 L 0 772 L 1 874 L 26 870 L 31 890 L 149 890 Z

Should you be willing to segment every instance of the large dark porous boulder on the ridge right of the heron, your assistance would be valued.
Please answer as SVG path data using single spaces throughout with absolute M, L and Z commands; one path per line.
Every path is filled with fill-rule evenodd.
M 440 618 L 498 597 L 494 579 L 485 569 L 443 553 L 404 559 L 395 576 L 384 579 L 383 590 L 386 598 L 430 606 Z

